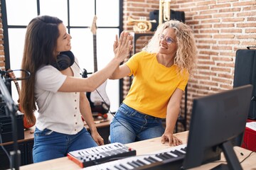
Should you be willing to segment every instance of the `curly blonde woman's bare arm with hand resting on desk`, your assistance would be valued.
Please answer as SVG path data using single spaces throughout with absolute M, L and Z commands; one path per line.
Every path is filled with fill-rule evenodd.
M 166 129 L 161 136 L 162 143 L 169 141 L 169 145 L 173 144 L 174 146 L 182 144 L 182 141 L 173 135 L 178 114 L 180 113 L 182 95 L 183 91 L 177 88 L 169 100 L 166 114 Z

